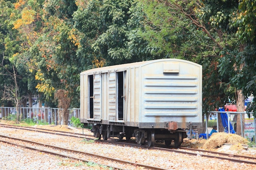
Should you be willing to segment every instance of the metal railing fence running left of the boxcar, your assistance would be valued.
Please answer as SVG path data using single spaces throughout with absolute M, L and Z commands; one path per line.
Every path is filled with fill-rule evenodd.
M 20 107 L 18 112 L 21 119 L 33 119 L 34 122 L 48 122 L 49 124 L 61 125 L 61 108 L 36 108 L 36 107 Z M 80 119 L 80 108 L 70 108 L 69 122 L 72 117 Z M 16 115 L 17 110 L 15 107 L 0 107 L 0 119 L 7 117 L 10 120 L 10 115 Z

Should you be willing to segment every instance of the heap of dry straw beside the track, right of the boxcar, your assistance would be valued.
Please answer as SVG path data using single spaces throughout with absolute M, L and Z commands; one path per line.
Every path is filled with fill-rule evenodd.
M 231 133 L 218 132 L 213 133 L 211 137 L 204 143 L 204 149 L 214 149 L 221 147 L 223 144 L 247 144 L 247 139 Z

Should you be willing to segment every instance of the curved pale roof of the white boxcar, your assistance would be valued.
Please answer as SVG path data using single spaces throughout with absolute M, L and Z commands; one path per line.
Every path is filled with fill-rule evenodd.
M 155 62 L 165 62 L 165 61 L 187 62 L 187 63 L 193 64 L 193 65 L 196 65 L 196 66 L 200 66 L 199 64 L 196 64 L 194 62 L 190 62 L 190 61 L 187 61 L 187 60 L 181 60 L 181 59 L 175 59 L 175 58 L 166 58 L 166 59 L 149 60 L 149 61 L 142 61 L 142 62 L 133 62 L 133 63 L 127 63 L 127 64 L 119 64 L 119 65 L 106 66 L 106 67 L 100 67 L 100 68 L 92 68 L 90 70 L 86 70 L 86 71 L 81 72 L 81 74 L 95 73 L 95 72 L 105 73 L 105 72 L 114 71 L 114 70 L 121 71 L 120 69 L 125 70 L 125 69 L 130 68 L 130 67 L 141 67 L 141 66 L 144 66 L 146 64 L 152 64 L 152 63 L 155 63 Z

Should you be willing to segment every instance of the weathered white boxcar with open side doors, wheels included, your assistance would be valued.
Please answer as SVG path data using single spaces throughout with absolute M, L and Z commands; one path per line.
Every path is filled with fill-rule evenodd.
M 138 144 L 164 140 L 180 146 L 188 125 L 202 126 L 202 66 L 160 59 L 94 68 L 81 73 L 81 123 L 94 136 Z

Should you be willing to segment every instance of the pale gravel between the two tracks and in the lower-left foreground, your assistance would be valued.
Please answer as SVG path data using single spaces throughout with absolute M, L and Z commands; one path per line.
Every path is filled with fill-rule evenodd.
M 125 147 L 113 144 L 90 143 L 81 138 L 49 135 L 41 132 L 0 127 L 0 134 L 10 137 L 29 139 L 45 144 L 81 150 L 104 156 L 159 166 L 170 170 L 245 170 L 256 169 L 255 165 L 234 163 L 226 160 L 189 156 L 175 152 Z M 254 151 L 254 150 L 253 150 Z M 252 152 L 252 150 L 250 151 Z M 254 151 L 255 152 L 255 151 Z M 87 170 L 108 169 L 88 166 L 72 159 L 57 157 L 5 143 L 0 143 L 0 167 L 3 170 Z M 207 165 L 207 166 L 206 166 Z

